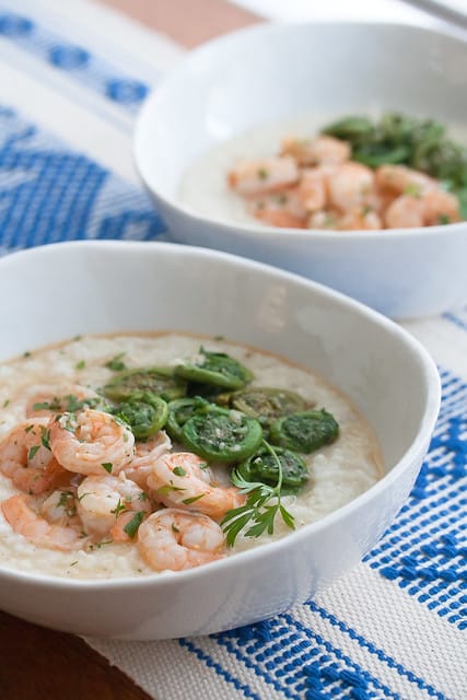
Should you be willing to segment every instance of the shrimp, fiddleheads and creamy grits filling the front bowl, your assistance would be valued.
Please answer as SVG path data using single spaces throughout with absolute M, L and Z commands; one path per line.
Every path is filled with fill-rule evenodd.
M 338 389 L 223 338 L 82 336 L 0 365 L 4 569 L 191 569 L 283 537 L 382 474 Z

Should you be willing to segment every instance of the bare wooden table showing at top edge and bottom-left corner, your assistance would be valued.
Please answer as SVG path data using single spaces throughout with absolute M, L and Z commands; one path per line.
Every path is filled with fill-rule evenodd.
M 186 47 L 258 22 L 224 0 L 101 0 Z M 0 612 L 1 700 L 149 700 L 72 634 Z M 191 700 L 187 697 L 187 700 Z

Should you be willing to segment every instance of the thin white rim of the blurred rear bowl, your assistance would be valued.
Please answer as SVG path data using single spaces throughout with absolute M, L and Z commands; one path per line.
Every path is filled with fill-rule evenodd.
M 404 236 L 406 238 L 417 238 L 423 233 L 429 237 L 437 237 L 441 233 L 445 234 L 450 232 L 452 234 L 456 233 L 465 233 L 465 229 L 467 226 L 467 221 L 459 221 L 456 223 L 448 224 L 440 224 L 435 226 L 417 226 L 412 229 L 382 229 L 378 231 L 322 231 L 319 229 L 290 229 L 290 228 L 275 228 L 268 224 L 260 224 L 255 221 L 242 222 L 242 221 L 229 221 L 218 217 L 211 217 L 209 214 L 202 214 L 197 212 L 191 207 L 183 203 L 177 198 L 177 195 L 166 196 L 161 194 L 157 188 L 153 186 L 151 183 L 151 176 L 148 174 L 148 170 L 145 168 L 145 158 L 144 153 L 147 152 L 145 144 L 148 143 L 148 139 L 145 138 L 145 133 L 148 128 L 151 128 L 151 124 L 156 120 L 157 115 L 157 105 L 161 101 L 164 100 L 164 91 L 174 80 L 177 80 L 179 75 L 183 75 L 184 72 L 189 70 L 191 66 L 196 66 L 199 60 L 202 60 L 206 54 L 210 54 L 211 51 L 223 50 L 224 46 L 229 47 L 230 45 L 236 43 L 238 39 L 242 39 L 244 36 L 253 35 L 259 36 L 269 35 L 275 33 L 282 32 L 295 32 L 295 31 L 310 31 L 319 26 L 337 26 L 337 27 L 384 27 L 389 28 L 395 32 L 400 31 L 409 31 L 418 34 L 424 34 L 432 37 L 441 37 L 443 39 L 453 40 L 458 45 L 466 45 L 467 42 L 455 33 L 453 30 L 450 31 L 448 27 L 434 28 L 431 26 L 424 26 L 421 24 L 416 24 L 415 22 L 392 22 L 392 21 L 376 21 L 376 20 L 317 20 L 314 22 L 269 22 L 261 24 L 254 24 L 252 26 L 247 26 L 241 30 L 235 30 L 220 37 L 215 37 L 203 43 L 201 46 L 188 51 L 180 60 L 178 66 L 171 70 L 160 82 L 157 88 L 150 93 L 150 95 L 144 100 L 141 109 L 138 113 L 138 117 L 135 125 L 133 130 L 133 142 L 132 142 L 132 159 L 140 176 L 142 183 L 147 187 L 147 189 L 157 199 L 157 201 L 173 211 L 176 211 L 178 214 L 183 214 L 186 219 L 196 222 L 198 224 L 209 224 L 215 225 L 219 230 L 225 231 L 226 233 L 235 233 L 235 231 L 241 233 L 244 237 L 256 238 L 260 236 L 261 238 L 268 240 L 268 242 L 275 242 L 275 238 L 281 237 L 281 234 L 287 235 L 288 240 L 292 240 L 294 243 L 296 241 L 316 241 L 316 242 L 341 242 L 345 241 L 373 241 L 374 238 L 378 240 L 393 240 L 395 236 Z M 222 141 L 218 142 L 218 145 L 221 144 Z M 213 145 L 213 144 L 211 144 Z M 179 183 L 179 180 L 178 180 Z

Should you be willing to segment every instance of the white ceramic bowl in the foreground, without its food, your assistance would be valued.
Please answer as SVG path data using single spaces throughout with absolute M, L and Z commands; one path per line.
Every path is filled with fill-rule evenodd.
M 370 419 L 387 470 L 322 521 L 190 571 L 93 582 L 0 570 L 1 607 L 27 620 L 157 639 L 276 615 L 376 542 L 428 448 L 440 401 L 428 353 L 393 322 L 294 275 L 189 246 L 77 242 L 1 258 L 0 299 L 0 360 L 83 332 L 174 329 L 220 334 L 313 368 Z

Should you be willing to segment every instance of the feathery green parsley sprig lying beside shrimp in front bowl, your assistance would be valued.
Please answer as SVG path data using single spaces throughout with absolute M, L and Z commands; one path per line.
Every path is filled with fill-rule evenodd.
M 233 547 L 240 533 L 247 526 L 249 527 L 245 532 L 245 537 L 259 537 L 265 532 L 272 535 L 278 514 L 281 515 L 288 527 L 295 529 L 292 513 L 281 503 L 282 464 L 272 445 L 266 440 L 262 441 L 262 444 L 276 459 L 279 474 L 278 482 L 271 487 L 261 481 L 246 481 L 237 469 L 233 470 L 232 483 L 240 489 L 241 493 L 248 495 L 244 505 L 227 511 L 221 522 L 229 547 Z

